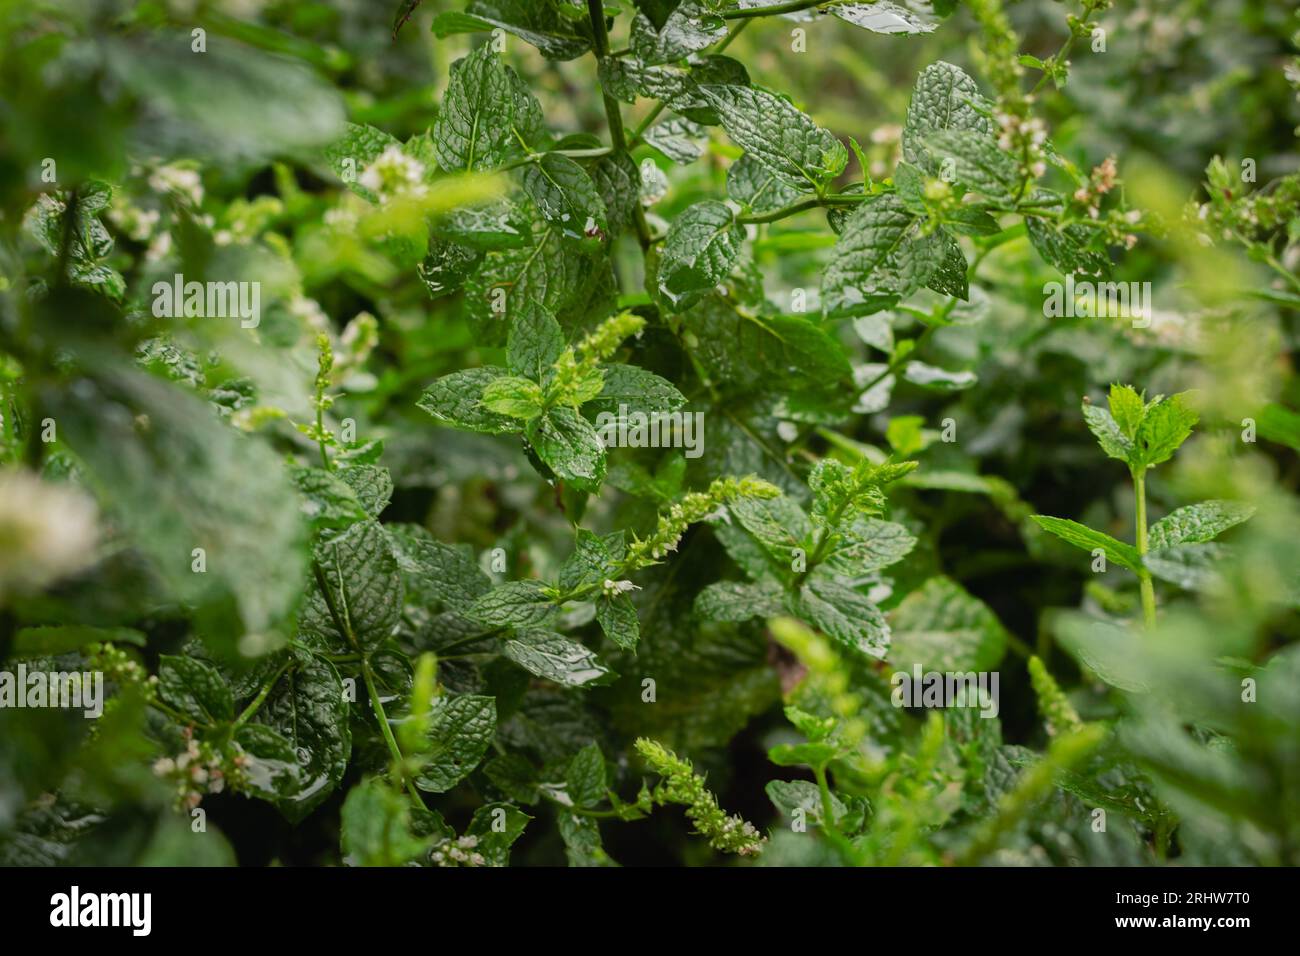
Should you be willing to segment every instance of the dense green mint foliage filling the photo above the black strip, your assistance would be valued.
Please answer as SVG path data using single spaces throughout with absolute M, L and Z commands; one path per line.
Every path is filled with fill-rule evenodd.
M 764 5 L 0 0 L 0 861 L 1300 861 L 1294 12 Z

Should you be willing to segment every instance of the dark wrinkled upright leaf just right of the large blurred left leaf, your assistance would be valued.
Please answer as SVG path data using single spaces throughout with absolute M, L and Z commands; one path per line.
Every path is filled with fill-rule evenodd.
M 358 522 L 315 550 L 320 576 L 307 592 L 299 632 L 313 646 L 351 653 L 393 636 L 402 615 L 402 572 L 378 522 Z M 321 591 L 321 588 L 326 591 Z

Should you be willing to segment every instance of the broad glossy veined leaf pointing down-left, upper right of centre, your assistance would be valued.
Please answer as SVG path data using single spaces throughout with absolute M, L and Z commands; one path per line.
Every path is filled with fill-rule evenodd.
M 915 219 L 896 195 L 881 194 L 859 204 L 845 220 L 822 274 L 826 315 L 870 315 L 920 289 L 939 258 L 907 242 L 914 229 Z

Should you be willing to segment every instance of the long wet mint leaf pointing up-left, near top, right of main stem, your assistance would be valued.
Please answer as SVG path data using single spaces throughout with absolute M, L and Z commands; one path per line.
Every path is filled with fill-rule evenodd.
M 788 100 L 748 86 L 702 86 L 727 135 L 783 182 L 803 193 L 844 172 L 844 143 Z

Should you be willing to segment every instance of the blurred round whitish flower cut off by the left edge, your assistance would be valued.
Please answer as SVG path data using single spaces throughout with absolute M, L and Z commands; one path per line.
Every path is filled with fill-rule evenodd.
M 70 484 L 0 471 L 0 596 L 38 591 L 92 564 L 96 514 Z

